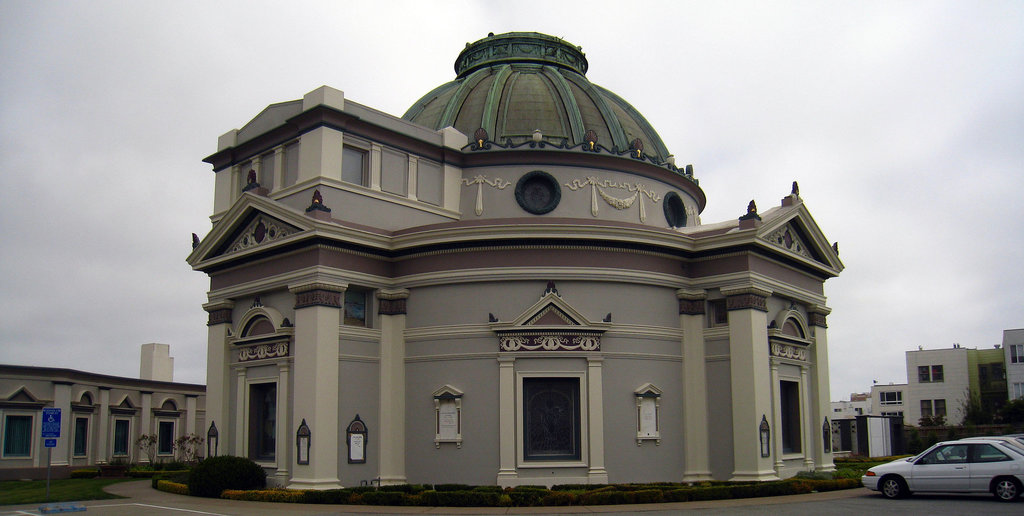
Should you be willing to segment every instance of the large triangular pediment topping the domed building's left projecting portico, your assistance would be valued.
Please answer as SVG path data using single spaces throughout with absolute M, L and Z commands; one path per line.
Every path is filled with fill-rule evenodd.
M 261 251 L 302 238 L 314 222 L 280 203 L 254 193 L 243 193 L 193 250 L 194 267 L 213 260 Z

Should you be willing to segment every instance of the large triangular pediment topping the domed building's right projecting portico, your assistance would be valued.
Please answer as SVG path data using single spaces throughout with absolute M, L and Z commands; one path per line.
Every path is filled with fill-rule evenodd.
M 835 274 L 843 270 L 838 250 L 828 243 L 803 202 L 772 215 L 770 219 L 766 217 L 757 233 L 770 249 L 830 269 Z

